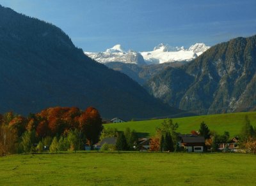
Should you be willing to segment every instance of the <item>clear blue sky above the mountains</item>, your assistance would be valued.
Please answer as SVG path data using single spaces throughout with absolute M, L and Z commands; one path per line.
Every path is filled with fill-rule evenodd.
M 255 0 L 0 0 L 0 4 L 60 27 L 87 52 L 116 44 L 140 52 L 159 43 L 213 46 L 256 34 Z

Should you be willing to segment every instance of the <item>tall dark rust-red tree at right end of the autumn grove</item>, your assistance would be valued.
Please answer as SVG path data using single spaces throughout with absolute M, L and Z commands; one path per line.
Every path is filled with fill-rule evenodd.
M 102 118 L 99 111 L 92 106 L 88 107 L 79 118 L 79 129 L 84 132 L 90 145 L 97 143 L 102 131 Z

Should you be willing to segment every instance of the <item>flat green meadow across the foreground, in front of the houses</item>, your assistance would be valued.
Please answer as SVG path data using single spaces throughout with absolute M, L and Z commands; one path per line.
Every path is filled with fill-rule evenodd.
M 256 185 L 256 155 L 127 152 L 0 157 L 0 185 Z

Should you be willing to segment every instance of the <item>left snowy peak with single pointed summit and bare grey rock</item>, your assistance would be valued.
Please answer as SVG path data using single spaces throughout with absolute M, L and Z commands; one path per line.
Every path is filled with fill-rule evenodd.
M 146 64 L 142 55 L 138 52 L 129 50 L 125 52 L 121 45 L 115 45 L 112 48 L 107 49 L 105 52 L 84 52 L 97 62 L 108 63 L 108 62 L 124 62 L 131 64 L 144 65 Z

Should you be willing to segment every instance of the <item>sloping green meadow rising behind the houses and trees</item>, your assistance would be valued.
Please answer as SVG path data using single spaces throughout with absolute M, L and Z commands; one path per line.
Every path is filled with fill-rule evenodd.
M 200 123 L 204 121 L 211 131 L 223 134 L 230 132 L 230 136 L 236 136 L 241 131 L 244 124 L 244 117 L 248 115 L 251 124 L 256 126 L 256 112 L 227 113 L 218 115 L 203 115 L 196 117 L 173 118 L 173 122 L 179 124 L 178 132 L 182 134 L 190 133 L 192 130 L 198 131 Z M 116 127 L 118 131 L 124 131 L 127 127 L 140 132 L 141 136 L 154 136 L 156 127 L 161 125 L 163 119 L 145 120 L 139 122 L 125 122 L 119 124 L 105 124 L 104 127 Z

